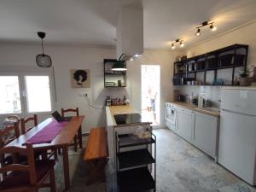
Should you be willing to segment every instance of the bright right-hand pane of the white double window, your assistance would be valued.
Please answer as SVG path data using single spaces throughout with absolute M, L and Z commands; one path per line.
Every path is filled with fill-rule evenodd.
M 51 111 L 49 76 L 26 76 L 25 79 L 28 112 Z

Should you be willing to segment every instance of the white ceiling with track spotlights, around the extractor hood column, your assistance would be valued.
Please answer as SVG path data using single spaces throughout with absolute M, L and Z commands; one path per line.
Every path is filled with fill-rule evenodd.
M 121 6 L 139 0 L 1 0 L 0 41 L 38 42 L 36 32 L 47 32 L 46 44 L 114 46 Z M 183 38 L 185 46 L 256 19 L 255 0 L 144 0 L 144 47 L 170 49 Z M 206 20 L 216 32 L 195 27 Z

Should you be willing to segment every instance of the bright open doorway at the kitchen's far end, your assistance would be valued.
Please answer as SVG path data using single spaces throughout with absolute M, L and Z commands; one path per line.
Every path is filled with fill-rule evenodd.
M 142 118 L 160 125 L 160 65 L 142 65 Z

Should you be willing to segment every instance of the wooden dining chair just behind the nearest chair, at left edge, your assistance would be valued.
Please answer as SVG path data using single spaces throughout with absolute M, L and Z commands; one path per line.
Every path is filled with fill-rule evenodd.
M 8 143 L 11 143 L 16 138 L 20 137 L 19 123 L 15 122 L 12 126 L 7 126 L 0 130 L 0 148 L 3 148 Z M 9 165 L 13 162 L 10 154 L 3 154 L 0 156 L 1 167 Z

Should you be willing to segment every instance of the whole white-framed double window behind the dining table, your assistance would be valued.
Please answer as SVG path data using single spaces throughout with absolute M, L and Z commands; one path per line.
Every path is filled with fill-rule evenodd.
M 51 112 L 50 77 L 50 73 L 1 73 L 0 114 Z

